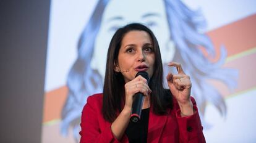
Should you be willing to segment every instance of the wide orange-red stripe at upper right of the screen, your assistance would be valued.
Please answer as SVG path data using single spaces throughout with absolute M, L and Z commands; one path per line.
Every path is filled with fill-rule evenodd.
M 207 33 L 216 48 L 216 58 L 220 56 L 220 46 L 224 45 L 228 56 L 256 46 L 256 14 L 243 18 Z

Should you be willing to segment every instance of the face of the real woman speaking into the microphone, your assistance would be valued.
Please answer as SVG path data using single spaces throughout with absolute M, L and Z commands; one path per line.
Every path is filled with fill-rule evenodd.
M 129 31 L 124 35 L 114 70 L 122 73 L 127 83 L 139 71 L 147 71 L 151 77 L 154 71 L 155 52 L 152 40 L 145 31 Z

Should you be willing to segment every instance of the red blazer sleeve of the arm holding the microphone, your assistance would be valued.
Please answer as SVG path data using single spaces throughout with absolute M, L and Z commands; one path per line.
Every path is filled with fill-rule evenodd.
M 119 142 L 111 131 L 111 124 L 100 128 L 101 108 L 92 96 L 88 97 L 87 104 L 83 107 L 81 117 L 80 142 Z M 103 119 L 101 119 L 103 120 Z

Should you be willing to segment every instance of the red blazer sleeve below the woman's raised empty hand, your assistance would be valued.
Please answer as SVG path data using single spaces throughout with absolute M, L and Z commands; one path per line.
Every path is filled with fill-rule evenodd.
M 176 108 L 176 118 L 179 125 L 179 142 L 189 143 L 205 143 L 203 136 L 203 127 L 198 114 L 195 99 L 190 97 L 193 103 L 194 115 L 181 117 L 181 110 L 177 103 L 174 103 Z

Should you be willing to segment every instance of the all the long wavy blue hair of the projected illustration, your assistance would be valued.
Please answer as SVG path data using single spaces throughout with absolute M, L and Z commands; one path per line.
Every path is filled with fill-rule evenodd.
M 215 56 L 215 49 L 207 35 L 202 33 L 206 22 L 200 10 L 190 10 L 179 0 L 163 0 L 165 4 L 170 40 L 173 40 L 176 53 L 173 61 L 182 64 L 182 68 L 192 81 L 192 96 L 197 100 L 203 126 L 207 124 L 203 119 L 207 103 L 213 104 L 222 116 L 226 115 L 226 104 L 220 92 L 207 83 L 208 79 L 219 80 L 229 89 L 236 87 L 237 70 L 222 68 L 226 59 L 226 50 L 221 47 L 220 59 L 211 62 L 203 55 L 202 47 L 208 55 Z M 69 89 L 66 104 L 62 108 L 61 133 L 67 134 L 69 126 L 73 128 L 75 139 L 79 139 L 80 116 L 88 96 L 103 91 L 103 78 L 98 71 L 92 70 L 90 62 L 95 44 L 95 38 L 101 26 L 101 18 L 108 0 L 99 0 L 96 8 L 80 36 L 78 56 L 67 77 Z M 164 75 L 171 71 L 163 65 Z M 172 71 L 174 72 L 174 71 Z

